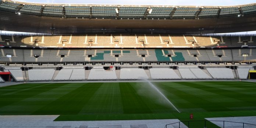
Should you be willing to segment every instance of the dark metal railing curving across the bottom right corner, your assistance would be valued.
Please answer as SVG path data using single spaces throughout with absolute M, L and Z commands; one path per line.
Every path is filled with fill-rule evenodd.
M 221 128 L 225 128 L 225 124 L 228 123 L 228 128 L 230 128 L 230 124 L 233 123 L 233 124 L 240 124 L 238 127 L 241 127 L 241 128 L 256 128 L 256 124 L 249 124 L 249 123 L 244 123 L 244 122 L 234 122 L 234 121 L 211 121 L 211 120 L 201 120 L 201 121 L 180 121 L 180 122 L 175 122 L 175 123 L 172 123 L 172 124 L 166 124 L 164 128 L 168 128 L 168 126 L 172 126 L 173 125 L 178 125 L 178 128 L 198 128 L 198 127 L 192 127 L 192 124 L 194 123 L 201 123 L 202 124 L 202 128 L 211 128 L 209 127 L 209 125 L 212 125 L 212 124 L 208 124 L 208 127 L 207 127 L 207 122 L 208 123 L 212 123 L 212 122 L 220 122 L 222 125 L 219 126 Z M 187 125 L 185 125 L 187 124 Z M 195 124 L 194 124 L 195 125 Z M 198 126 L 198 125 L 197 125 Z M 201 128 L 201 127 L 200 127 Z

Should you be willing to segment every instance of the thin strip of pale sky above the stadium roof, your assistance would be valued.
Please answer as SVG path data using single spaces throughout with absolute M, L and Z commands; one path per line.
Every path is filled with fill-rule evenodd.
M 196 5 L 228 6 L 255 3 L 255 0 L 18 0 L 30 3 L 92 3 L 92 4 L 138 4 L 138 5 Z

